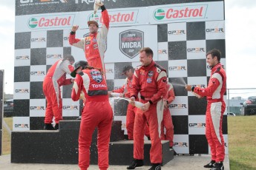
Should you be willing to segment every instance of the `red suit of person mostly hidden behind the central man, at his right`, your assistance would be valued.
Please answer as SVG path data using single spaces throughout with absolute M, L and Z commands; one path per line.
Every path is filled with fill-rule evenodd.
M 171 83 L 166 84 L 166 93 L 163 97 L 164 102 L 168 101 L 170 104 L 175 99 L 174 86 Z M 166 129 L 166 134 L 164 134 L 164 128 Z M 171 119 L 170 109 L 163 109 L 163 121 L 161 126 L 161 140 L 169 140 L 170 146 L 174 146 L 174 125 Z

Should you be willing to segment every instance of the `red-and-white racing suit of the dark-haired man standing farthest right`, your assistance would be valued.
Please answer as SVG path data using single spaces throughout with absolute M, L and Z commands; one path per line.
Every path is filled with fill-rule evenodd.
M 226 72 L 222 65 L 216 64 L 211 68 L 211 78 L 207 88 L 194 87 L 193 90 L 200 96 L 206 96 L 206 139 L 211 147 L 211 160 L 220 162 L 225 157 L 222 122 L 226 109 L 223 95 L 226 92 Z

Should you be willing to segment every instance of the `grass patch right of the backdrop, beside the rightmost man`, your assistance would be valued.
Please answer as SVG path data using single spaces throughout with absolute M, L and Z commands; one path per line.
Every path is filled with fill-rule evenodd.
M 256 116 L 228 117 L 231 170 L 256 169 Z

